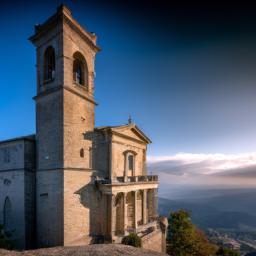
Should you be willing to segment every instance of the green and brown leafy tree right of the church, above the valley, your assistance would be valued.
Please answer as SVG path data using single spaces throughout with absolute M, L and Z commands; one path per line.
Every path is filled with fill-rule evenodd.
M 171 212 L 167 234 L 167 253 L 171 256 L 211 256 L 217 247 L 196 228 L 186 210 Z

